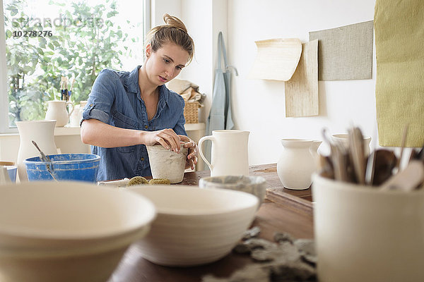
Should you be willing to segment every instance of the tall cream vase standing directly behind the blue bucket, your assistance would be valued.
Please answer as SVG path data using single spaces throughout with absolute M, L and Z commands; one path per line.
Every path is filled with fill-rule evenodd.
M 28 181 L 23 161 L 30 157 L 38 157 L 40 153 L 33 145 L 33 141 L 47 154 L 57 154 L 54 142 L 54 126 L 56 121 L 16 121 L 19 130 L 20 145 L 18 150 L 18 176 L 21 182 Z

